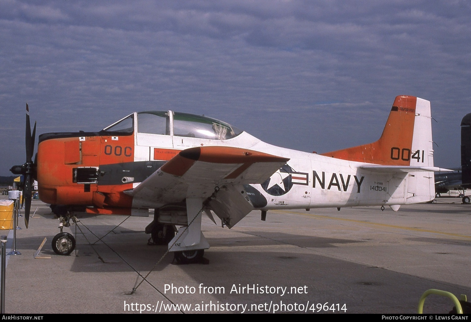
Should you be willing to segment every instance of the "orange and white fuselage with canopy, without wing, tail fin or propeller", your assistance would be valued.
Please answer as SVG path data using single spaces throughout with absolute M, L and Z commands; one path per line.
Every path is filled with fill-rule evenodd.
M 200 146 L 238 147 L 289 159 L 264 183 L 247 188 L 255 209 L 399 205 L 430 201 L 434 195 L 410 189 L 414 174 L 367 171 L 359 168 L 365 163 L 270 145 L 204 116 L 149 111 L 133 113 L 100 132 L 41 135 L 39 196 L 47 203 L 83 205 L 103 214 L 160 208 L 162 201 L 133 200 L 124 191 L 180 151 Z

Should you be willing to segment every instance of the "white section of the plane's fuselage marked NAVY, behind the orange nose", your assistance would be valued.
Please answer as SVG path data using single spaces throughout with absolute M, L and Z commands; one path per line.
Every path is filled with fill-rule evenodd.
M 359 168 L 365 163 L 269 145 L 246 132 L 227 140 L 137 133 L 134 161 L 154 161 L 154 150 L 199 146 L 232 146 L 289 158 L 264 184 L 253 185 L 267 199 L 263 210 L 401 205 L 430 201 L 435 195 L 430 191 L 433 172 L 367 171 Z

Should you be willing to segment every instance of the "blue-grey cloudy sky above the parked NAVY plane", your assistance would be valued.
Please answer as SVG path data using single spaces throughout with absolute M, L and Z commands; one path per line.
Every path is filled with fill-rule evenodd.
M 375 141 L 403 94 L 457 167 L 471 2 L 1 0 L 0 71 L 0 175 L 24 163 L 26 102 L 38 133 L 171 109 L 322 153 Z

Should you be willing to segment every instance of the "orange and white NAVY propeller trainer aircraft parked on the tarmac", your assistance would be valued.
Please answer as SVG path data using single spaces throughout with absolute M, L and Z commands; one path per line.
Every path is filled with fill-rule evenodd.
M 91 214 L 149 216 L 156 243 L 184 263 L 203 256 L 203 213 L 228 228 L 254 209 L 390 206 L 435 197 L 430 102 L 398 96 L 378 141 L 329 153 L 306 153 L 262 142 L 209 117 L 172 111 L 132 113 L 98 132 L 34 135 L 26 112 L 25 222 L 32 178 L 39 197 Z M 443 169 L 442 169 L 443 170 Z M 384 208 L 382 208 L 384 209 Z M 177 229 L 177 227 L 179 227 Z M 69 254 L 75 240 L 57 234 L 52 247 Z

